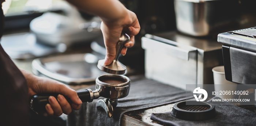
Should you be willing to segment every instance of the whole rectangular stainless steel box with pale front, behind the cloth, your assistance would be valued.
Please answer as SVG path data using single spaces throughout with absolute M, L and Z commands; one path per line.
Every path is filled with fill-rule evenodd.
M 142 37 L 142 48 L 147 78 L 189 91 L 198 84 L 213 84 L 211 69 L 223 64 L 221 44 L 216 40 L 189 37 L 176 31 L 146 34 Z M 186 89 L 187 84 L 191 84 L 191 89 Z

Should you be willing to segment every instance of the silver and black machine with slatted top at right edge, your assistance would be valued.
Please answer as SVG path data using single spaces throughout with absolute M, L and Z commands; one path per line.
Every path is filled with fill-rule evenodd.
M 256 106 L 256 27 L 218 34 L 226 80 L 254 88 Z

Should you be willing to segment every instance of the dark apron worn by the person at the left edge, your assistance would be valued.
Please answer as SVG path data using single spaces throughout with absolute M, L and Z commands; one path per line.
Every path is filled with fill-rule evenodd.
M 1 36 L 4 15 L 0 10 Z M 28 97 L 25 77 L 0 45 L 0 126 L 29 125 Z

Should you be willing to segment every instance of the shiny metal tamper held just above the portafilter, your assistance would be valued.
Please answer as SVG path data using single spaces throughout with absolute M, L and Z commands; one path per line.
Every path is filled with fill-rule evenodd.
M 116 45 L 116 57 L 114 58 L 114 61 L 111 64 L 104 66 L 105 60 L 104 59 L 99 60 L 97 65 L 98 68 L 103 72 L 107 72 L 110 74 L 124 74 L 126 67 L 125 65 L 123 65 L 121 62 L 118 61 L 118 58 L 124 44 L 129 41 L 130 41 L 130 37 L 128 36 L 128 34 L 121 33 L 121 36 Z

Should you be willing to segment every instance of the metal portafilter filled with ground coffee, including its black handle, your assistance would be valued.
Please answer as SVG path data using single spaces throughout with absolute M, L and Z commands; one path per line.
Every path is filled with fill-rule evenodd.
M 78 91 L 78 97 L 82 102 L 92 102 L 93 99 L 104 97 L 97 102 L 97 108 L 103 108 L 108 117 L 112 117 L 113 107 L 117 105 L 118 98 L 124 98 L 129 94 L 131 80 L 124 75 L 104 74 L 96 78 L 96 89 Z M 50 96 L 57 98 L 56 93 L 33 95 L 30 99 L 30 108 L 35 112 L 44 112 L 45 105 L 49 103 Z M 64 96 L 65 97 L 65 96 Z M 65 97 L 72 103 L 68 97 Z

